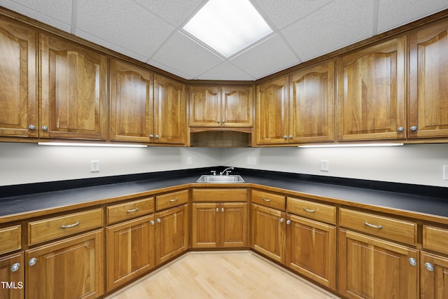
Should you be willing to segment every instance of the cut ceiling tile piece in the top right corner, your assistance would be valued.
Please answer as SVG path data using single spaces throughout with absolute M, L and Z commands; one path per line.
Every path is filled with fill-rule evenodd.
M 378 32 L 400 27 L 446 8 L 447 0 L 379 0 Z

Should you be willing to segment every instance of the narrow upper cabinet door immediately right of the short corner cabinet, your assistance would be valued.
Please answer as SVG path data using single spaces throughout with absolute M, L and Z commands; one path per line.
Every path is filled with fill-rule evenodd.
M 257 86 L 256 144 L 288 143 L 288 76 Z

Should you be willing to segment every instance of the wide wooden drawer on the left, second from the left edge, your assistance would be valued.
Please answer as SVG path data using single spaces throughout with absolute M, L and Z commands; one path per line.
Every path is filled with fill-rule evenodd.
M 28 223 L 28 244 L 65 237 L 103 225 L 103 210 L 82 211 Z

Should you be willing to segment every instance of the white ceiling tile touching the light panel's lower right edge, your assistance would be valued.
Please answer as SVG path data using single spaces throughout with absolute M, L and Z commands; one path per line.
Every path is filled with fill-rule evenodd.
M 262 78 L 299 63 L 297 56 L 277 34 L 230 60 L 253 78 Z

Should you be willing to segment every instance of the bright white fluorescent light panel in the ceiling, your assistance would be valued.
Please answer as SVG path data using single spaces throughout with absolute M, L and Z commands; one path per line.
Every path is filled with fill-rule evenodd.
M 210 0 L 183 29 L 225 57 L 272 32 L 248 0 Z

